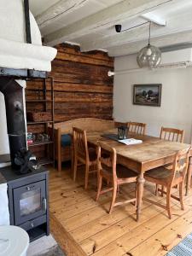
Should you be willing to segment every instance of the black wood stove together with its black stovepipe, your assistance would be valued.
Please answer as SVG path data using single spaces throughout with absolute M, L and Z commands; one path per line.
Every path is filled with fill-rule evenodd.
M 49 235 L 48 171 L 43 166 L 32 165 L 30 160 L 31 154 L 26 148 L 23 88 L 15 79 L 26 77 L 0 76 L 11 160 L 11 166 L 0 168 L 0 183 L 8 183 L 10 224 L 26 230 L 33 241 Z

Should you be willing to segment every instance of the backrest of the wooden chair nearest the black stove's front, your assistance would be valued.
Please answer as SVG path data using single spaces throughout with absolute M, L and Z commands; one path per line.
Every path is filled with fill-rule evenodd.
M 97 148 L 97 166 L 99 170 L 111 172 L 113 181 L 117 180 L 116 163 L 117 153 L 116 149 L 108 146 L 106 143 L 98 142 Z

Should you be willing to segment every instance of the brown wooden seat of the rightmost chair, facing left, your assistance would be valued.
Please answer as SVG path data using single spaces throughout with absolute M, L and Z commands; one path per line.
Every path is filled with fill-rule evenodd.
M 154 183 L 169 183 L 170 177 L 172 176 L 172 171 L 169 169 L 166 169 L 164 166 L 160 166 L 157 168 L 154 168 L 144 174 L 144 177 L 149 182 Z M 179 183 L 182 181 L 183 177 L 180 172 L 176 172 L 175 178 L 173 180 L 173 184 Z

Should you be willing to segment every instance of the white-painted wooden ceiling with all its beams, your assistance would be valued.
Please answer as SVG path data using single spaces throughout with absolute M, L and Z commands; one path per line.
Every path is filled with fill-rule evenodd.
M 192 0 L 30 0 L 46 44 L 65 41 L 80 44 L 83 51 L 108 50 L 109 55 L 137 52 L 148 41 L 148 23 L 152 23 L 151 43 L 159 47 L 192 43 Z M 117 33 L 115 24 L 122 30 Z

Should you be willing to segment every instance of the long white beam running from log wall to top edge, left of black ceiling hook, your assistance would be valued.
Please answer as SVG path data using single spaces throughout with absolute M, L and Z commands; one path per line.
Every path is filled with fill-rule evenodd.
M 45 35 L 45 44 L 55 45 L 73 38 L 82 37 L 87 33 L 96 32 L 102 28 L 113 26 L 125 19 L 134 18 L 152 11 L 161 4 L 171 3 L 174 0 L 124 0 L 107 9 L 102 9 L 94 15 L 78 20 L 71 25 Z

